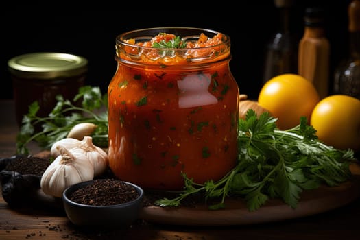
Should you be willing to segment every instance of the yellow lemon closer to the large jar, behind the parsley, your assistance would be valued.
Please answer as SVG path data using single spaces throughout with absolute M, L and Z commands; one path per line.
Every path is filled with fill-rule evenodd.
M 282 74 L 265 82 L 259 93 L 258 102 L 278 119 L 280 130 L 293 128 L 300 123 L 300 117 L 307 117 L 317 102 L 319 93 L 309 80 L 297 74 Z

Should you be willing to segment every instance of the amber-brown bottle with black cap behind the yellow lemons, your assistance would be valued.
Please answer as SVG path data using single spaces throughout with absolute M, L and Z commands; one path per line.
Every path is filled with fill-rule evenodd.
M 325 10 L 307 8 L 304 13 L 304 35 L 298 51 L 298 74 L 313 83 L 320 98 L 329 91 L 330 43 L 326 38 Z

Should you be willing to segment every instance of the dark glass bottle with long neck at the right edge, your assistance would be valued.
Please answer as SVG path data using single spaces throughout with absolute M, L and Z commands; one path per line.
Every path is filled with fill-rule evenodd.
M 349 53 L 335 69 L 334 93 L 360 99 L 360 0 L 348 6 Z

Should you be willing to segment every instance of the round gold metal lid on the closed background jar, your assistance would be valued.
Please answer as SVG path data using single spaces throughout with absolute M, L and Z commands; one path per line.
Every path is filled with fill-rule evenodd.
M 52 79 L 73 77 L 87 71 L 88 61 L 69 53 L 28 53 L 8 61 L 10 73 L 17 77 Z

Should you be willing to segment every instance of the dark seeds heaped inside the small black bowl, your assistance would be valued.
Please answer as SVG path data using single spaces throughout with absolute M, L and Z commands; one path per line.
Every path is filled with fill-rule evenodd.
M 70 200 L 80 204 L 108 206 L 130 202 L 139 197 L 139 193 L 128 184 L 115 179 L 95 180 L 70 195 Z

